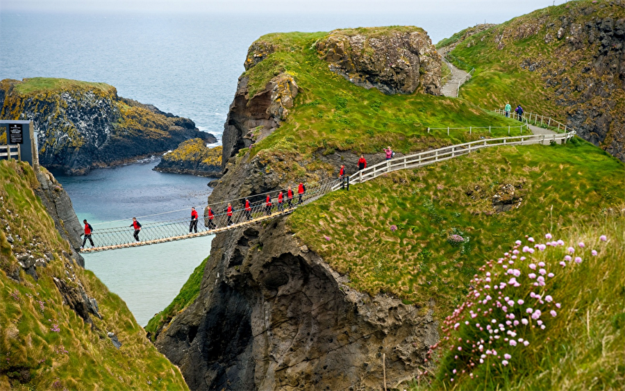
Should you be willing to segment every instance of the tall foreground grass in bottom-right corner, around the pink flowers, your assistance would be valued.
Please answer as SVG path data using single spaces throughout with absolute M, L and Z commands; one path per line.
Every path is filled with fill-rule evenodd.
M 535 231 L 537 242 L 544 241 L 544 231 Z M 519 325 L 516 338 L 530 341 L 525 347 L 517 344 L 510 347 L 506 342 L 494 340 L 486 349 L 496 349 L 499 358 L 489 356 L 484 365 L 477 365 L 474 378 L 461 374 L 469 358 L 475 357 L 467 342 L 462 353 L 452 348 L 458 345 L 457 338 L 463 340 L 488 340 L 490 334 L 478 331 L 474 323 L 484 323 L 483 317 L 471 320 L 469 326 L 460 322 L 458 331 L 451 333 L 449 342 L 443 342 L 437 360 L 435 377 L 425 376 L 415 382 L 409 390 L 622 390 L 625 384 L 625 217 L 608 216 L 597 219 L 592 224 L 575 224 L 562 227 L 553 232 L 554 239 L 561 238 L 565 246 L 575 249 L 574 256 L 580 256 L 582 262 L 568 263 L 561 267 L 558 263 L 564 258 L 564 248 L 547 248 L 537 251 L 532 260 L 518 262 L 515 267 L 527 273 L 526 265 L 542 261 L 555 276 L 547 278 L 544 288 L 535 288 L 529 283 L 522 283 L 515 290 L 504 294 L 522 298 L 534 308 L 541 307 L 556 310 L 552 317 L 547 310 L 540 319 L 546 328 L 530 328 Z M 599 240 L 599 235 L 606 235 L 607 242 Z M 519 237 L 519 239 L 523 239 Z M 585 248 L 578 246 L 583 242 Z M 526 242 L 527 243 L 527 242 Z M 513 243 L 509 243 L 510 246 Z M 591 249 L 598 252 L 591 255 Z M 524 253 L 527 255 L 527 253 Z M 499 256 L 503 256 L 500 254 Z M 495 267 L 497 269 L 497 267 Z M 491 270 L 487 267 L 486 270 Z M 479 273 L 485 277 L 483 272 Z M 522 281 L 524 275 L 519 278 Z M 553 303 L 537 303 L 530 296 L 531 292 L 547 294 L 553 297 L 553 303 L 560 303 L 556 308 Z M 475 307 L 473 307 L 475 308 Z M 512 312 L 512 310 L 509 310 Z M 527 317 L 519 307 L 515 310 L 516 319 Z M 503 316 L 496 310 L 489 317 Z M 469 319 L 466 317 L 465 319 Z M 505 319 L 504 319 L 505 320 Z M 451 325 L 456 319 L 451 320 Z M 502 322 L 503 323 L 503 322 Z M 538 326 L 535 322 L 534 326 Z M 453 327 L 452 327 L 453 328 Z M 454 342 L 452 343 L 451 340 Z M 438 352 L 438 351 L 437 351 Z M 508 366 L 501 365 L 503 355 L 510 353 Z M 454 356 L 459 355 L 458 359 Z M 479 357 L 477 357 L 479 358 Z M 494 365 L 492 365 L 494 364 Z M 453 369 L 458 372 L 453 374 Z M 476 376 L 476 377 L 475 377 Z M 450 379 L 454 378 L 451 382 Z M 426 385 L 428 381 L 432 385 Z M 419 384 L 421 383 L 421 384 Z

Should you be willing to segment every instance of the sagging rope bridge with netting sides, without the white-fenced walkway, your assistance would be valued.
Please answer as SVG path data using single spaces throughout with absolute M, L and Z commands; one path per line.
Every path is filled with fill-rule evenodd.
M 198 238 L 250 224 L 256 224 L 266 219 L 272 219 L 279 215 L 291 213 L 300 205 L 322 197 L 322 195 L 331 192 L 333 188 L 339 188 L 340 179 L 304 183 L 304 186 L 306 192 L 304 192 L 301 197 L 299 197 L 297 192 L 298 189 L 293 189 L 293 197 L 291 200 L 288 199 L 287 191 L 283 190 L 283 203 L 278 203 L 278 191 L 254 194 L 253 196 L 247 197 L 247 199 L 250 200 L 249 210 L 245 208 L 246 198 L 212 203 L 204 209 L 203 219 L 200 217 L 194 224 L 191 222 L 190 215 L 189 217 L 178 219 L 144 222 L 138 234 L 139 241 L 136 241 L 133 237 L 135 229 L 132 224 L 124 224 L 123 226 L 111 228 L 95 228 L 91 234 L 95 246 L 85 247 L 81 249 L 81 253 L 140 247 L 149 244 L 173 242 L 174 240 Z M 272 194 L 274 194 L 273 197 Z M 266 205 L 267 195 L 269 195 L 272 203 L 272 206 L 269 207 Z M 228 204 L 231 205 L 231 216 L 228 216 Z M 208 207 L 212 210 L 213 219 L 208 217 Z M 190 208 L 185 210 L 190 212 Z M 157 215 L 166 214 L 167 213 L 158 213 Z M 127 222 L 130 223 L 131 220 L 128 219 Z M 89 244 L 90 241 L 87 240 L 85 246 Z

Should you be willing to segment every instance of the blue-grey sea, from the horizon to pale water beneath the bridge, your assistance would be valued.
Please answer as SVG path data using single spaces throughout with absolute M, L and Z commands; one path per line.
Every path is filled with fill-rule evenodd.
M 261 35 L 412 25 L 424 28 L 436 43 L 475 24 L 501 23 L 551 6 L 551 1 L 440 1 L 435 9 L 411 8 L 408 13 L 399 1 L 390 2 L 383 13 L 354 9 L 334 14 L 324 9 L 331 3 L 319 2 L 316 13 L 288 14 L 279 9 L 246 12 L 245 2 L 238 13 L 37 13 L 0 7 L 0 80 L 41 76 L 107 83 L 121 97 L 192 119 L 219 144 L 247 49 Z M 78 219 L 88 219 L 95 229 L 112 221 L 129 225 L 133 216 L 147 221 L 172 210 L 190 217 L 191 206 L 206 203 L 210 178 L 154 172 L 158 160 L 153 156 L 85 176 L 56 178 Z M 87 253 L 85 267 L 124 299 L 145 326 L 208 256 L 212 240 Z

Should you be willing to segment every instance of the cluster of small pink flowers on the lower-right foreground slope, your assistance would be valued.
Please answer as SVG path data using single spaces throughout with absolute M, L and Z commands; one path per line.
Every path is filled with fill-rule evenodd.
M 437 349 L 449 349 L 453 356 L 453 364 L 447 365 L 453 369 L 445 374 L 449 381 L 459 376 L 478 376 L 473 372 L 479 365 L 511 365 L 515 356 L 522 355 L 523 347 L 531 344 L 535 333 L 544 331 L 549 319 L 558 316 L 561 305 L 549 294 L 558 274 L 557 260 L 543 261 L 540 252 L 553 249 L 562 253 L 562 267 L 568 267 L 572 260 L 583 260 L 581 256 L 573 258 L 576 248 L 565 246 L 563 240 L 551 240 L 549 233 L 545 238 L 544 243 L 535 243 L 527 236 L 526 244 L 517 240 L 511 251 L 490 260 L 479 269 L 481 275 L 474 275 L 472 290 L 444 320 L 443 338 L 430 348 L 426 359 L 431 360 Z M 599 239 L 607 240 L 605 235 Z M 584 252 L 583 242 L 577 247 L 578 252 Z M 597 251 L 591 254 L 597 256 Z

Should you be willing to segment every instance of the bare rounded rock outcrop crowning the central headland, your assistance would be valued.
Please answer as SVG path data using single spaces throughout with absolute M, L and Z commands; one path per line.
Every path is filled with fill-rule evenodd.
M 337 30 L 317 42 L 317 51 L 333 72 L 356 85 L 385 94 L 440 95 L 440 56 L 419 28 L 387 35 Z

